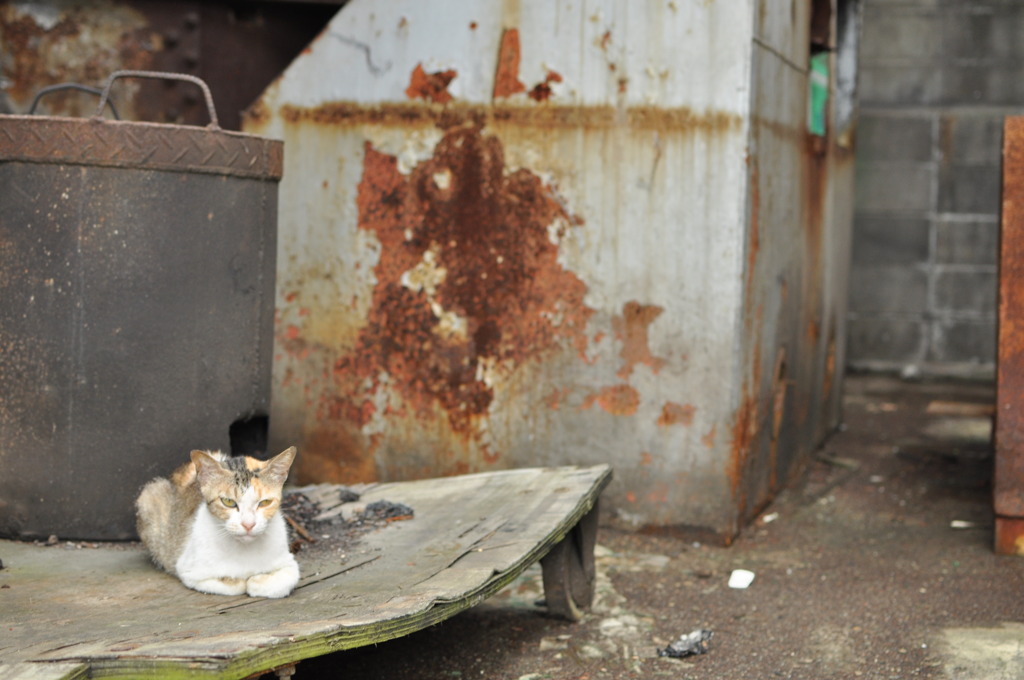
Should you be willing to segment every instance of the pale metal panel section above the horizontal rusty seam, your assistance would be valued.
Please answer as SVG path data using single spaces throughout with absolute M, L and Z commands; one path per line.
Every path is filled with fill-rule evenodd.
M 408 0 L 355 0 L 267 100 L 304 109 L 408 101 L 419 67 L 424 76 L 454 72 L 444 89 L 459 102 L 490 104 L 497 90 L 534 103 L 547 83 L 557 103 L 738 115 L 749 107 L 752 20 L 746 0 L 458 0 L 443 12 Z

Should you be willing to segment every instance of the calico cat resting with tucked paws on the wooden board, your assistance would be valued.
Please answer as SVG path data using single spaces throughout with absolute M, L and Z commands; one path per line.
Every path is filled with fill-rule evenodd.
M 264 462 L 194 451 L 170 479 L 148 482 L 135 507 L 153 561 L 204 593 L 289 595 L 299 565 L 279 509 L 295 453 Z

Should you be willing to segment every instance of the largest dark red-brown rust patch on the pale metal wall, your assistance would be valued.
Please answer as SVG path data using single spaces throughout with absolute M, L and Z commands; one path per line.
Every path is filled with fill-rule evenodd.
M 439 408 L 469 440 L 494 376 L 586 345 L 587 288 L 549 237 L 583 220 L 536 174 L 509 171 L 479 126 L 447 129 L 409 175 L 367 142 L 356 204 L 381 252 L 367 324 L 334 368 L 332 420 L 365 426 L 375 415 L 365 405 L 386 389 L 401 396 L 400 415 L 430 420 Z

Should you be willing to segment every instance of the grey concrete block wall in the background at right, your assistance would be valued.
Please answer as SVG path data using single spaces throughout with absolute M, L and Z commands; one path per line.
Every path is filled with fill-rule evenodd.
M 849 365 L 991 376 L 1024 2 L 865 0 Z

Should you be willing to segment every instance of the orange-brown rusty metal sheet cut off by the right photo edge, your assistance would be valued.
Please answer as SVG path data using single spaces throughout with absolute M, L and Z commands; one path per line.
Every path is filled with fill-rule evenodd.
M 1000 229 L 993 498 L 996 515 L 1017 518 L 1019 524 L 1019 520 L 1024 518 L 1024 118 L 1022 117 L 1008 118 L 1004 126 Z

